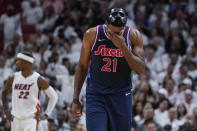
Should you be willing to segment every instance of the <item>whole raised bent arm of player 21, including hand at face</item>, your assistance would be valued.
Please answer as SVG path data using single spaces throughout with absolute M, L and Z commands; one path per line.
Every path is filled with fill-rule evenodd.
M 134 70 L 137 74 L 144 73 L 145 62 L 144 62 L 144 50 L 142 36 L 137 30 L 130 31 L 130 41 L 132 50 L 128 49 L 125 44 L 122 33 L 115 33 L 110 28 L 107 29 L 110 40 L 115 46 L 121 49 L 129 67 Z

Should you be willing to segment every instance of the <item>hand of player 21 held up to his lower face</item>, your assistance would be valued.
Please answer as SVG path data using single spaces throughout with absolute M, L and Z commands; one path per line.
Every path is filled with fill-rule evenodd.
M 125 39 L 123 37 L 123 31 L 121 31 L 119 34 L 112 32 L 109 28 L 107 28 L 107 34 L 110 38 L 110 40 L 113 42 L 113 44 L 118 47 L 121 48 L 125 42 Z

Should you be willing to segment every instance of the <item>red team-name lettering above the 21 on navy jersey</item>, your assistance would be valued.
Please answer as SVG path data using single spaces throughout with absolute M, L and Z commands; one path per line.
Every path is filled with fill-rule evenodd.
M 101 55 L 101 56 L 112 56 L 112 57 L 123 57 L 123 53 L 120 49 L 111 49 L 106 48 L 105 45 L 100 45 L 98 47 L 98 50 L 94 51 L 95 55 Z

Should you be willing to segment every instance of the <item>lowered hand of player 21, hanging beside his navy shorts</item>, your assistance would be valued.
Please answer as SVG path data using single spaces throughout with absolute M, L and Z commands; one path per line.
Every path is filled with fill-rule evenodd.
M 75 119 L 80 120 L 82 116 L 82 106 L 72 103 L 72 115 Z

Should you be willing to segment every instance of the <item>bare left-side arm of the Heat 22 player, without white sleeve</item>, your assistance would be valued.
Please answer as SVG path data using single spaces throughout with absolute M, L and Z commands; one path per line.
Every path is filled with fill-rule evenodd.
M 14 81 L 14 76 L 11 76 L 7 79 L 5 89 L 2 92 L 2 102 L 3 102 L 3 108 L 4 110 L 8 110 L 8 94 L 10 93 L 12 89 L 12 83 Z

